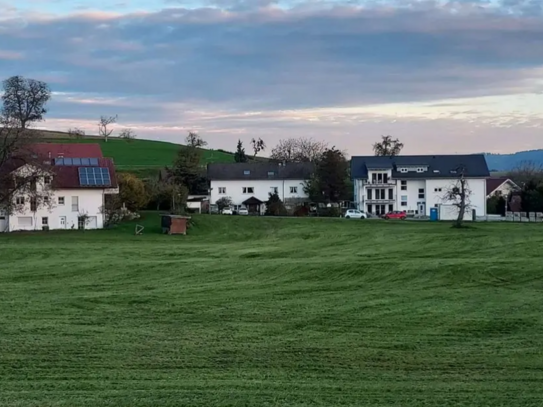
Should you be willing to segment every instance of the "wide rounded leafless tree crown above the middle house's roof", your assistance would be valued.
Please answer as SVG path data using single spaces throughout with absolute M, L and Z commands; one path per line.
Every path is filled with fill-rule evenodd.
M 271 159 L 283 162 L 314 162 L 317 161 L 327 144 L 312 138 L 289 138 L 279 140 L 271 151 Z

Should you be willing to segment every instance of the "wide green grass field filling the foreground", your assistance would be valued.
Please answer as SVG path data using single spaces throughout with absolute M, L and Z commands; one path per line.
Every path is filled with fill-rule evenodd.
M 540 225 L 0 236 L 1 406 L 541 406 Z

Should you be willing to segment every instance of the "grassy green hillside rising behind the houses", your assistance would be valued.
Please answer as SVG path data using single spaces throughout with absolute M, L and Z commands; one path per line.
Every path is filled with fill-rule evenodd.
M 165 166 L 171 166 L 179 144 L 153 141 L 153 140 L 132 140 L 127 142 L 111 137 L 108 142 L 96 136 L 86 136 L 82 139 L 73 139 L 67 133 L 54 131 L 40 131 L 44 141 L 54 143 L 99 143 L 104 156 L 111 157 L 115 161 L 115 167 L 119 171 L 129 171 L 142 177 L 156 174 Z M 219 150 L 203 149 L 203 165 L 214 162 L 233 162 L 234 155 Z

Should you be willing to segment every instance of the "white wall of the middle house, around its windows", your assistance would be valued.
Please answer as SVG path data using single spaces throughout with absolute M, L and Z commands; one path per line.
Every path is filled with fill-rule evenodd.
M 284 202 L 288 198 L 307 198 L 304 193 L 304 180 L 239 180 L 239 181 L 211 181 L 211 203 L 216 203 L 223 197 L 230 197 L 232 204 L 241 205 L 243 201 L 254 196 L 263 202 L 269 198 L 272 187 L 277 187 L 279 198 Z M 225 187 L 226 193 L 219 194 L 219 188 Z M 253 187 L 254 193 L 244 194 L 243 187 Z M 290 193 L 290 187 L 298 187 L 296 194 Z

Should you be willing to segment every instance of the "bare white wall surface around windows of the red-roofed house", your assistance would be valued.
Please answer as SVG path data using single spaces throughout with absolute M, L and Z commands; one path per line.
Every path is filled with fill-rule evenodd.
M 79 198 L 79 210 L 72 212 L 72 196 Z M 64 197 L 64 205 L 58 204 L 58 198 Z M 42 230 L 42 218 L 47 217 L 49 229 L 78 228 L 79 214 L 96 217 L 96 225 L 88 224 L 86 229 L 101 229 L 104 227 L 103 215 L 100 213 L 104 202 L 104 191 L 101 189 L 61 189 L 51 194 L 51 207 L 40 206 L 36 212 L 30 211 L 30 199 L 25 197 L 25 206 L 22 211 L 9 216 L 9 231 L 15 230 Z M 66 217 L 65 227 L 61 226 L 60 218 Z M 32 224 L 19 226 L 19 217 L 30 217 Z

